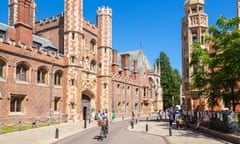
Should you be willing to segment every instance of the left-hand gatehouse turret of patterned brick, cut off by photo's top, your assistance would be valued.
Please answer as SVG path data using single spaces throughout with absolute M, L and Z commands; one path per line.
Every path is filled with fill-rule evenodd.
M 83 55 L 83 0 L 65 0 L 64 55 L 66 63 L 65 98 L 70 119 L 77 120 L 81 113 L 81 76 Z

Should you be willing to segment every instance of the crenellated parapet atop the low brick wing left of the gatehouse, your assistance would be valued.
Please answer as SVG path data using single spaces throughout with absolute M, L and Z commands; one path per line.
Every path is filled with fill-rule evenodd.
M 24 53 L 26 54 L 27 52 L 32 53 L 32 55 L 34 55 L 34 57 L 42 57 L 42 56 L 48 56 L 48 57 L 53 57 L 56 59 L 60 59 L 61 57 L 63 57 L 62 54 L 60 54 L 58 51 L 53 50 L 53 49 L 46 49 L 44 47 L 36 47 L 36 46 L 29 46 L 26 45 L 23 42 L 16 42 L 13 39 L 10 39 L 8 37 L 3 37 L 0 36 L 0 45 L 5 45 L 3 47 L 1 47 L 1 49 L 6 49 L 7 51 L 13 51 L 13 52 L 19 52 L 19 53 Z M 9 49 L 9 47 L 14 47 L 14 48 L 18 48 L 18 50 L 15 49 Z M 34 53 L 35 52 L 35 53 Z M 38 54 L 38 56 L 36 55 Z M 31 54 L 29 54 L 31 55 Z

